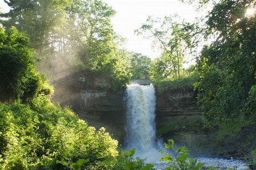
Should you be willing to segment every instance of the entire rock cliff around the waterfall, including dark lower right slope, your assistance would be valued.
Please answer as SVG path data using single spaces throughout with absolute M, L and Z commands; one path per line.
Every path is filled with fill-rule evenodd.
M 138 83 L 138 81 L 132 82 Z M 113 91 L 108 78 L 90 75 L 81 69 L 59 72 L 54 75 L 51 82 L 55 87 L 54 102 L 62 107 L 70 107 L 81 119 L 87 120 L 90 126 L 105 127 L 119 144 L 123 144 L 126 117 L 123 100 L 125 88 Z M 142 80 L 143 85 L 149 83 L 150 81 Z M 159 93 L 156 89 L 157 128 L 201 118 L 202 111 L 196 104 L 197 94 L 192 86 L 182 89 L 169 88 L 163 93 Z M 243 159 L 256 148 L 256 143 L 252 142 L 256 141 L 255 127 L 243 127 L 236 135 L 227 135 L 217 141 L 215 136 L 218 131 L 218 128 L 209 131 L 201 126 L 177 126 L 162 138 L 165 142 L 173 138 L 175 143 L 180 144 L 179 146 L 189 147 L 195 156 L 206 154 L 205 156 Z

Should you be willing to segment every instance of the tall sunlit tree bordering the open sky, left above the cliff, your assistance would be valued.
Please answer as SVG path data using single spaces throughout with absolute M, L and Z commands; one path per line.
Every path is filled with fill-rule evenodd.
M 74 4 L 75 22 L 79 29 L 78 57 L 91 69 L 99 70 L 103 61 L 115 50 L 114 31 L 110 18 L 115 11 L 102 1 L 77 1 Z

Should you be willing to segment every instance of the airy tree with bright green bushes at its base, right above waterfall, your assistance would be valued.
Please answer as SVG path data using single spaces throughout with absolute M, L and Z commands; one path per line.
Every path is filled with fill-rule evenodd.
M 198 45 L 197 34 L 194 34 L 195 28 L 199 28 L 198 24 L 181 20 L 177 14 L 163 19 L 149 16 L 146 23 L 135 30 L 137 35 L 152 39 L 152 47 L 162 50 L 161 56 L 150 65 L 149 74 L 153 81 L 167 77 L 179 78 L 187 50 L 193 53 Z

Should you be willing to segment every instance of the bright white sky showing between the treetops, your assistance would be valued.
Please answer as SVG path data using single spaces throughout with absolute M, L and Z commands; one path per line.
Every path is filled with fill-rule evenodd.
M 186 22 L 193 22 L 194 18 L 201 17 L 203 13 L 195 12 L 195 8 L 178 0 L 102 0 L 107 5 L 113 7 L 116 11 L 115 16 L 111 19 L 114 31 L 128 41 L 125 45 L 128 51 L 142 53 L 151 59 L 159 57 L 160 51 L 151 48 L 151 40 L 143 39 L 142 35 L 135 35 L 137 30 L 146 22 L 149 15 L 163 18 L 178 14 Z M 8 11 L 8 6 L 3 0 L 0 0 L 0 7 Z

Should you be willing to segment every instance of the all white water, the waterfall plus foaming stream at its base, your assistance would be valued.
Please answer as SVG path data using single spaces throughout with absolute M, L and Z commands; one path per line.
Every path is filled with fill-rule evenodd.
M 125 92 L 126 102 L 126 136 L 125 150 L 135 148 L 134 157 L 147 158 L 154 168 L 165 169 L 166 162 L 159 161 L 159 150 L 163 149 L 161 140 L 155 138 L 155 89 L 153 85 L 128 85 Z M 220 169 L 237 166 L 246 169 L 245 163 L 239 160 L 211 159 L 198 157 L 198 162 L 205 167 L 213 165 Z

